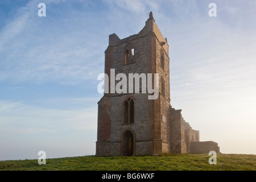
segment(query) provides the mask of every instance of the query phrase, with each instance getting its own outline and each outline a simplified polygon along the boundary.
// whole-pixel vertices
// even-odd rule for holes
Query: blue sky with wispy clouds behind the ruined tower
[[[108,36],[138,34],[150,11],[170,46],[171,105],[221,152],[256,154],[255,9],[230,0],[1,0],[0,160],[95,154]]]

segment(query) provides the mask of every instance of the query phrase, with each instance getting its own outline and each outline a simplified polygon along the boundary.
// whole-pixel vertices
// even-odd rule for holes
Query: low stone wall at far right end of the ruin
[[[209,153],[209,151],[220,152],[218,143],[213,141],[191,142],[189,145],[189,153],[191,154],[205,154]]]

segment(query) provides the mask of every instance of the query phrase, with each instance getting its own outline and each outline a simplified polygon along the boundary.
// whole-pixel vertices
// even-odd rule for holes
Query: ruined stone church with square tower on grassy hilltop
[[[142,92],[142,82],[139,93],[112,92],[109,88],[113,69],[114,76],[158,73],[158,79],[152,76],[152,82],[159,85],[158,98],[149,100],[152,94]],[[219,152],[217,143],[199,142],[199,131],[184,121],[181,110],[170,105],[169,46],[152,12],[138,34],[125,39],[109,36],[105,74],[110,79],[105,77],[108,90],[98,102],[96,156]],[[114,84],[117,83],[115,78]]]

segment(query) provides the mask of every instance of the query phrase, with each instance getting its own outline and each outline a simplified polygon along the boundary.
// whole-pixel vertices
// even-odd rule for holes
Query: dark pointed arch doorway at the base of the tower
[[[122,134],[122,144],[121,144],[121,151],[122,156],[133,156],[134,149],[135,149],[135,136],[134,133],[130,130],[126,130]]]

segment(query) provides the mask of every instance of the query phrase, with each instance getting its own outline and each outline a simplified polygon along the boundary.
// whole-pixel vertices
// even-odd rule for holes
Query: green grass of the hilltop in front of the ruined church
[[[0,161],[1,170],[92,170],[92,171],[172,171],[172,170],[256,170],[256,155],[217,154],[217,164],[208,163],[208,154],[170,154],[162,156],[95,157]]]

